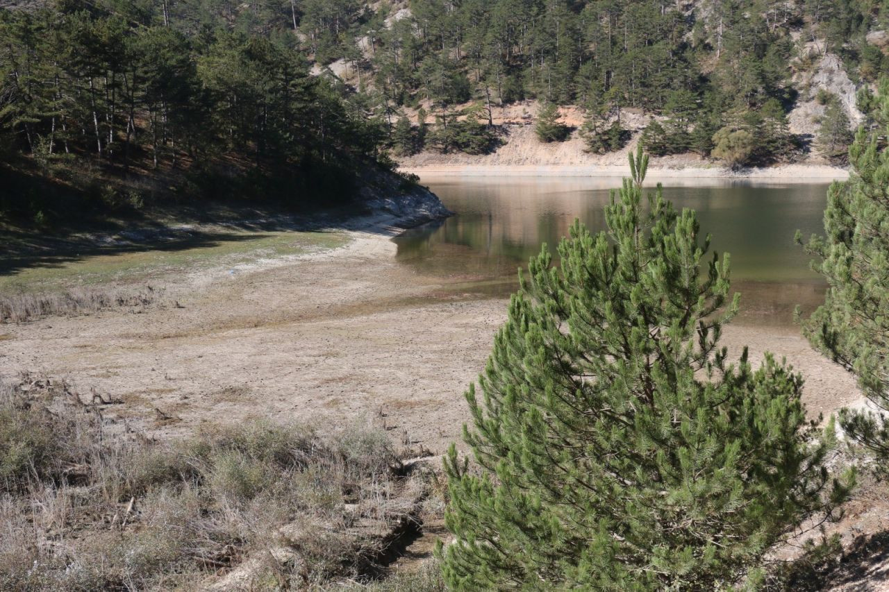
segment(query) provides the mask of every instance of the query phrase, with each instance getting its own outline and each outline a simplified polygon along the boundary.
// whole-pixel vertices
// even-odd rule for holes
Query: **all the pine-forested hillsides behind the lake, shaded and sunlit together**
[[[115,204],[142,196],[103,183],[136,173],[181,194],[324,203],[388,150],[495,150],[509,134],[494,110],[526,100],[540,106],[540,142],[579,137],[591,153],[641,131],[655,156],[734,167],[817,150],[842,164],[855,91],[889,68],[877,0],[0,6],[4,159],[31,171],[6,183],[17,189],[3,207],[33,216],[43,198],[20,188],[35,172]],[[644,131],[628,128],[630,113],[645,116]]]

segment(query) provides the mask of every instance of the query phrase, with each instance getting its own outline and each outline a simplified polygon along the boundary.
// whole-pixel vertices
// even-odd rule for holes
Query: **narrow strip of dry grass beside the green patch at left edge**
[[[138,292],[75,288],[64,292],[0,293],[0,323],[24,323],[44,316],[83,315],[103,308],[143,310],[161,293],[151,286]]]

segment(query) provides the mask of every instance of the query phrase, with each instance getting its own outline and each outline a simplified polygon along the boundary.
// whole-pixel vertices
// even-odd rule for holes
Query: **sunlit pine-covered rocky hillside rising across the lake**
[[[877,2],[415,0],[364,14],[340,5],[327,20],[304,16],[305,43],[322,63],[340,57],[332,70],[371,89],[390,118],[419,108],[415,133],[396,128],[403,154],[490,150],[493,109],[533,99],[580,106],[590,152],[621,148],[621,112],[633,109],[658,116],[645,132],[654,155],[768,164],[817,144],[842,161],[854,98],[811,74],[838,59],[861,86],[886,68]],[[355,24],[343,34],[349,14]],[[805,122],[813,133],[790,132],[791,108],[815,98],[821,107]],[[552,111],[541,120],[541,141],[572,131]]]

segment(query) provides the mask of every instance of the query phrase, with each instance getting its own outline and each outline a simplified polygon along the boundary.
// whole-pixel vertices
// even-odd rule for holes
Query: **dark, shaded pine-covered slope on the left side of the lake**
[[[381,120],[310,76],[274,20],[241,26],[211,2],[21,4],[0,9],[0,211],[13,218],[171,196],[325,206],[380,164]]]

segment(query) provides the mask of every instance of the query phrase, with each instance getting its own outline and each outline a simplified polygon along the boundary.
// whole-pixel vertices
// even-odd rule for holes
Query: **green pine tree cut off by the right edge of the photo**
[[[815,348],[853,372],[877,408],[889,412],[889,151],[881,139],[889,131],[889,81],[869,106],[874,127],[856,133],[849,149],[852,175],[830,186],[825,236],[813,236],[808,244],[821,258],[813,267],[829,289],[803,329]],[[840,426],[875,452],[877,472],[889,475],[885,417],[843,410]]]

